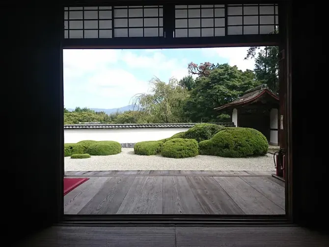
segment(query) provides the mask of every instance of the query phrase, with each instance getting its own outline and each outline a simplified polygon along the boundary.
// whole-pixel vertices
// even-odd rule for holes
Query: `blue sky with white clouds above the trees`
[[[147,93],[157,76],[168,82],[188,75],[189,62],[229,63],[253,69],[247,47],[141,50],[64,50],[64,106],[119,108]]]

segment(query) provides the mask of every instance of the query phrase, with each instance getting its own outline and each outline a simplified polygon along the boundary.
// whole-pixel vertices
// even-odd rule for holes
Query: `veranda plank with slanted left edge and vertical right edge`
[[[163,177],[136,177],[117,214],[162,214]]]

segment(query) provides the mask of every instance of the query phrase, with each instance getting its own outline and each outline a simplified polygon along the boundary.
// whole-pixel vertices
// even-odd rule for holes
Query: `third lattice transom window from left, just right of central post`
[[[225,35],[225,6],[176,5],[175,37],[209,37]]]

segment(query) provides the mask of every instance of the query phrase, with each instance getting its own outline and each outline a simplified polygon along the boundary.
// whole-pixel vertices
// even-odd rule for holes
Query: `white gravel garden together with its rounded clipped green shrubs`
[[[64,170],[273,171],[268,148],[255,129],[201,123],[167,139],[139,142],[134,149],[113,141],[67,143]]]

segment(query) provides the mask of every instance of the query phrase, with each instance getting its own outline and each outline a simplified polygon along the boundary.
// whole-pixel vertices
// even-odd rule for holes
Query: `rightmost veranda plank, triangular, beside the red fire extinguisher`
[[[265,197],[269,198],[281,209],[285,209],[284,187],[274,183],[267,177],[242,177],[241,179],[262,193]]]

